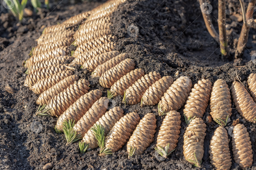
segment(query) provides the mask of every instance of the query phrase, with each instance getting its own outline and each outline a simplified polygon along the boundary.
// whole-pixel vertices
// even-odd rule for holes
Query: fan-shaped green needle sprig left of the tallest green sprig
[[[75,120],[74,121],[72,121],[72,120],[66,121],[65,120],[63,122],[63,131],[65,134],[65,138],[67,140],[66,145],[69,145],[72,142],[82,139],[82,135],[77,134],[77,132],[73,129],[74,126],[75,126]]]

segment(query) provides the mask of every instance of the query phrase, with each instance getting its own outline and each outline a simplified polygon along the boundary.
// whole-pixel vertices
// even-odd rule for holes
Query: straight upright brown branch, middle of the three
[[[229,57],[225,11],[226,11],[226,0],[219,0],[218,26],[219,26],[219,39],[220,39],[220,49],[221,49],[220,51],[221,51],[222,61],[225,61]]]

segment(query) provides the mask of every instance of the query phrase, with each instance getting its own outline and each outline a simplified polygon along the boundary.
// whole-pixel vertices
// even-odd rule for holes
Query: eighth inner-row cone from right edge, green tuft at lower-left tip
[[[145,72],[143,69],[131,70],[129,73],[121,77],[117,82],[115,82],[110,91],[113,92],[114,96],[124,95],[125,90],[128,89],[135,81],[144,76]]]

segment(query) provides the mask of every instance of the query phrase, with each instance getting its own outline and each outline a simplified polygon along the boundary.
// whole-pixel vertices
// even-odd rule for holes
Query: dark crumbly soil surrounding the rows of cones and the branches
[[[213,5],[213,24],[217,26],[217,19],[214,18],[214,16],[217,18],[217,1],[211,3]],[[235,13],[240,13],[240,5],[239,1],[235,0],[230,0],[227,4],[229,4],[226,12],[227,28],[232,30],[229,32],[229,46],[231,55],[234,56],[235,44],[242,22],[230,18]],[[51,13],[42,11],[42,18],[40,15],[36,15],[21,25],[17,25],[11,15],[1,14],[0,169],[42,169],[49,162],[53,164],[53,169],[195,168],[186,162],[183,156],[183,134],[186,129],[183,116],[181,116],[182,123],[178,146],[167,159],[163,159],[154,151],[156,136],[163,119],[159,116],[156,116],[157,129],[154,142],[143,155],[128,159],[126,145],[112,156],[99,157],[97,156],[98,149],[80,154],[77,143],[66,146],[64,135],[55,133],[53,127],[57,118],[34,115],[38,107],[35,103],[38,95],[23,86],[26,69],[21,66],[22,61],[29,58],[29,51],[36,46],[35,39],[40,36],[45,26],[62,22],[70,16],[92,9],[97,5],[99,3],[95,2],[84,2],[76,5],[60,4]],[[142,68],[146,73],[157,71],[161,76],[171,75],[174,80],[185,75],[191,78],[193,84],[203,78],[209,79],[212,84],[217,79],[224,79],[229,87],[236,77],[236,72],[246,86],[248,75],[256,73],[256,60],[249,61],[253,53],[256,52],[255,30],[250,30],[248,50],[245,51],[244,59],[235,61],[235,65],[243,66],[234,67],[231,64],[233,61],[230,63],[221,62],[219,45],[207,32],[197,1],[127,1],[120,5],[112,16],[113,34],[119,39],[116,49],[120,52],[127,52],[130,58],[136,61],[136,68]],[[127,33],[127,29],[131,28],[130,25],[133,25],[133,28],[134,26],[138,28],[138,34],[136,34],[136,29],[131,30],[131,35],[135,36],[130,36]],[[244,65],[245,63],[246,65]],[[176,74],[177,72],[178,74]],[[86,70],[79,69],[77,66],[75,74],[81,78],[89,79],[91,89],[101,89],[103,95],[107,95],[107,89],[103,89],[99,85],[98,79],[90,78]],[[9,92],[6,91],[6,86],[10,86],[14,93],[10,90],[8,90]],[[148,112],[157,115],[157,106],[142,108],[139,104],[125,106],[121,101],[122,96],[118,96],[112,101],[112,104],[121,106],[125,114],[137,111],[141,118]],[[247,123],[241,118],[234,106],[233,108],[231,122],[228,123],[226,129],[229,130],[233,120],[239,118],[240,123],[244,123],[247,127],[253,151],[255,151],[256,125]],[[183,109],[179,110],[181,115],[183,115]],[[212,169],[208,154],[209,141],[214,130],[218,127],[215,122],[209,123],[208,115],[210,115],[209,106],[203,117],[207,125],[203,169]],[[231,142],[229,144],[232,155]],[[251,169],[256,169],[256,157],[253,158],[254,163]],[[239,169],[234,160],[231,168]]]

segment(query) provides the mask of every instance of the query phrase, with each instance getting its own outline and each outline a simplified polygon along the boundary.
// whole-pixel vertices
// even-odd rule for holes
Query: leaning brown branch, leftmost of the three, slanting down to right
[[[220,42],[219,34],[216,32],[216,30],[214,29],[214,27],[212,25],[210,14],[208,14],[204,9],[204,7],[205,7],[204,3],[206,3],[206,2],[205,2],[205,0],[199,0],[199,3],[200,3],[200,8],[201,8],[201,11],[203,14],[204,23],[205,23],[206,28],[207,28],[208,32],[210,33],[210,35],[214,38],[214,40],[219,43]]]

